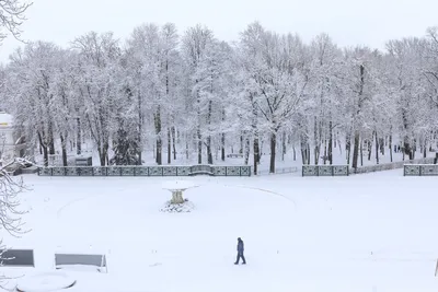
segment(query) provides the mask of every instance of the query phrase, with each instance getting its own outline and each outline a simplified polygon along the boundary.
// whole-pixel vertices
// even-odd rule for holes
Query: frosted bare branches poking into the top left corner
[[[0,1],[0,43],[12,34],[19,40],[21,39],[21,25],[26,20],[25,12],[32,5],[32,2],[21,0],[1,0]]]

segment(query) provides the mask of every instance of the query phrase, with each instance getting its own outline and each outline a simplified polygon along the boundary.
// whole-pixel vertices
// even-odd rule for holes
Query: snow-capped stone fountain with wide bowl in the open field
[[[170,190],[172,192],[172,198],[165,203],[161,211],[170,213],[192,212],[192,210],[195,209],[195,206],[193,202],[188,201],[188,199],[185,199],[183,194],[185,190],[195,187],[198,186],[189,180],[165,182],[162,185],[162,188]]]

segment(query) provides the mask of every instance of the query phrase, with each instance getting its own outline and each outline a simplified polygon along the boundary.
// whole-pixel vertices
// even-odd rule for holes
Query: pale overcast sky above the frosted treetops
[[[339,46],[384,48],[389,39],[423,36],[438,25],[438,0],[33,0],[23,37],[67,46],[89,31],[112,31],[125,39],[137,25],[175,23],[180,33],[197,23],[219,39],[237,40],[257,20],[306,42],[324,32]],[[9,37],[0,61],[21,44]]]

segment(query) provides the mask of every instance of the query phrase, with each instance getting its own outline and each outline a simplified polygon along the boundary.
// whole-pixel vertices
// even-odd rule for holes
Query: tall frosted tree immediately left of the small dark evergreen
[[[99,152],[101,165],[110,161],[111,135],[120,106],[120,48],[112,33],[91,32],[78,37],[72,47],[79,54],[77,93],[84,103],[83,119]]]

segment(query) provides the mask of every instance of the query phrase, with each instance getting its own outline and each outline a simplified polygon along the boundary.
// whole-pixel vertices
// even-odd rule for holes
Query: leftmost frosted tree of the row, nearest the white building
[[[42,149],[44,164],[55,154],[55,117],[60,114],[53,92],[60,48],[51,43],[31,43],[11,56],[5,93],[11,114],[24,135]]]

